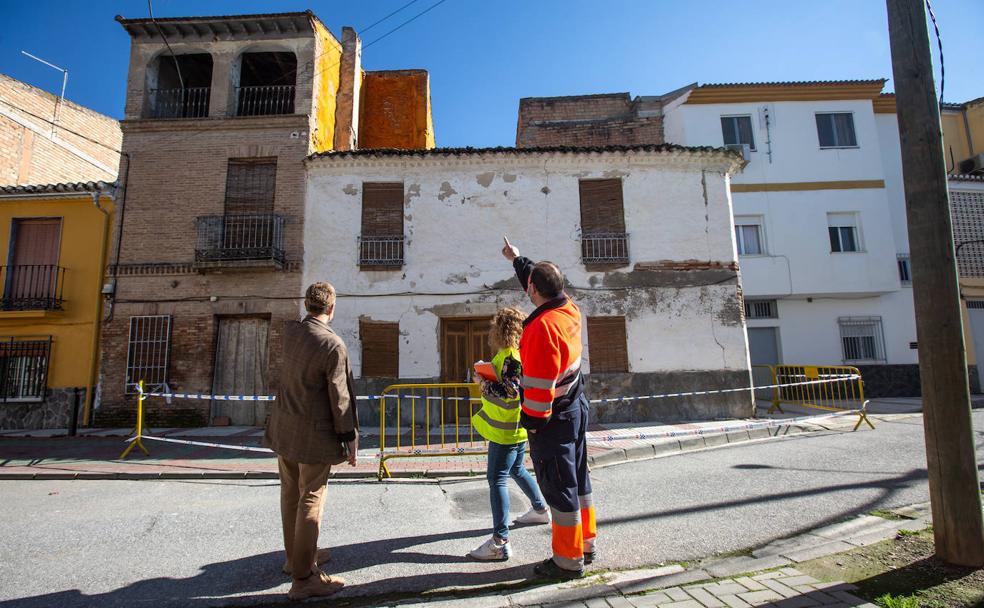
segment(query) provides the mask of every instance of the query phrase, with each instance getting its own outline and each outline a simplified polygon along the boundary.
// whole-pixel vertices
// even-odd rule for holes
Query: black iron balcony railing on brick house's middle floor
[[[274,213],[198,218],[195,261],[266,261],[283,264],[285,218]]]

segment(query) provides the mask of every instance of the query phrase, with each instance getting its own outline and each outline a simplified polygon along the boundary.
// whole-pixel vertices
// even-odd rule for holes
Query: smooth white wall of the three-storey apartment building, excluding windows
[[[821,148],[816,114],[826,112],[851,114],[856,146]],[[749,319],[748,327],[775,328],[778,361],[917,363],[910,348],[916,341],[912,292],[898,268],[899,254],[909,248],[894,114],[876,114],[871,99],[687,104],[684,96],[668,104],[664,116],[667,141],[689,146],[723,145],[724,116],[751,119],[755,149],[734,177],[732,200],[736,223],[762,227],[761,253],[741,255],[739,262],[746,299],[777,302],[777,318]],[[775,190],[816,182],[854,187]],[[875,185],[858,188],[857,182]],[[858,251],[833,252],[828,227],[851,218]],[[842,318],[879,320],[883,353],[852,358],[842,341]]]

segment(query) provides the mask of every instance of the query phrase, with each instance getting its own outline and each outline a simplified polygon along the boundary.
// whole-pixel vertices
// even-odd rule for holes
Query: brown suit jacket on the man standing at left
[[[280,389],[264,443],[287,460],[339,464],[359,428],[348,350],[314,317],[284,329]]]

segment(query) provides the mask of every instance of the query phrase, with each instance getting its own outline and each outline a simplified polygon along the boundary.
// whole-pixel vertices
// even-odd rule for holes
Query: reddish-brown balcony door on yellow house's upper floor
[[[12,236],[4,299],[37,304],[55,298],[61,218],[14,220]]]

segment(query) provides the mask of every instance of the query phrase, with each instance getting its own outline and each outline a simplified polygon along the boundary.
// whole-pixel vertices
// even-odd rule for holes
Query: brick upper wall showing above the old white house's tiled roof
[[[606,146],[663,143],[659,102],[628,93],[519,100],[516,146]]]

